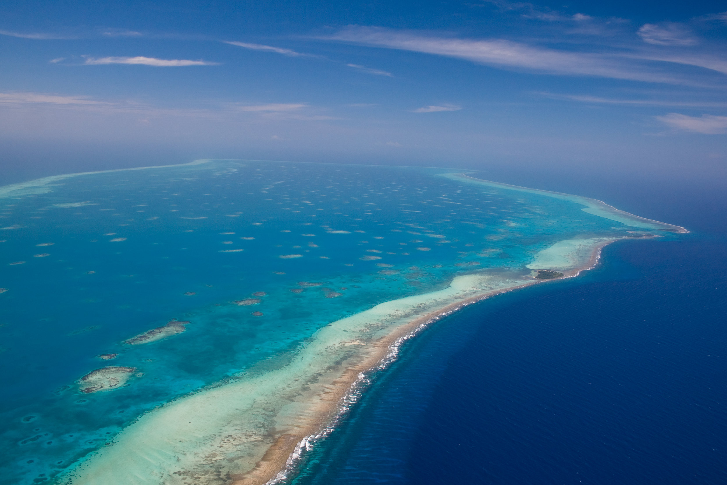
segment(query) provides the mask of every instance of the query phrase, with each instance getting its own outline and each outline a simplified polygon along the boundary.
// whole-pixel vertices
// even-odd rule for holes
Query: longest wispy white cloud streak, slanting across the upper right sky
[[[688,80],[680,76],[672,76],[659,69],[643,66],[643,58],[638,55],[627,58],[619,55],[555,50],[506,39],[457,39],[360,26],[345,28],[333,36],[322,39],[425,52],[488,66],[545,74],[689,84]]]

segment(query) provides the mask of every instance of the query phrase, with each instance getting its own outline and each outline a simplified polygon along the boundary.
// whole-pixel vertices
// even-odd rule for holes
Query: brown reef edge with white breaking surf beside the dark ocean
[[[316,406],[318,408],[316,411],[320,414],[325,414],[327,419],[319,422],[317,426],[308,425],[308,427],[301,427],[300,433],[289,433],[278,437],[273,446],[270,446],[262,459],[256,463],[255,468],[243,476],[234,477],[230,485],[275,485],[289,478],[302,461],[302,451],[307,451],[312,446],[315,446],[317,441],[326,438],[327,435],[332,433],[337,422],[347,414],[350,406],[358,401],[358,398],[354,395],[356,394],[356,390],[361,387],[359,383],[367,380],[369,375],[377,371],[383,371],[390,366],[396,360],[401,350],[401,345],[407,340],[414,338],[414,336],[417,336],[420,332],[425,331],[433,323],[452,315],[464,307],[501,293],[519,290],[537,283],[547,283],[577,277],[582,272],[593,269],[598,265],[602,250],[606,245],[622,239],[630,238],[616,238],[595,245],[590,259],[586,264],[582,267],[564,271],[562,277],[552,280],[536,280],[533,278],[513,288],[489,291],[469,299],[457,301],[430,312],[423,317],[411,320],[411,322],[395,328],[390,334],[380,337],[375,343],[376,352],[367,355],[362,362],[346,368],[332,382],[332,385],[327,387],[328,393],[332,394],[332,396],[329,395],[326,398],[321,398],[321,402]]]

